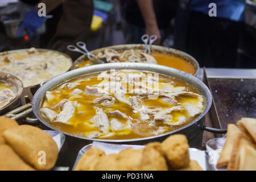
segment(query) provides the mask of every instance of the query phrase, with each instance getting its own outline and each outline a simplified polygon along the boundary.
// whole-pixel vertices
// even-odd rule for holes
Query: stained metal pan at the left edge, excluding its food
[[[7,104],[5,107],[0,109],[0,115],[1,115],[3,113],[6,113],[7,111],[15,109],[17,106],[20,105],[20,96],[23,92],[23,84],[22,84],[22,81],[19,80],[19,78],[13,75],[10,75],[8,73],[0,72],[0,80],[13,85],[15,89],[15,93],[17,95],[15,98],[13,98],[13,100],[9,102],[9,104]]]

